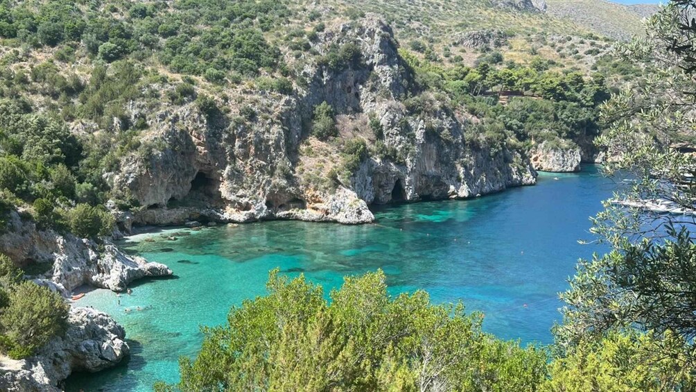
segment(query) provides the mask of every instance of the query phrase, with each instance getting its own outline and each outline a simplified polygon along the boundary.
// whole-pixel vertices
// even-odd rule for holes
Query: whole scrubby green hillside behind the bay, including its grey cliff
[[[211,220],[369,220],[330,211],[528,184],[544,141],[594,159],[596,108],[640,73],[610,39],[539,8],[385,4],[386,22],[365,22],[375,5],[4,1],[3,205],[81,236],[110,232],[107,201],[136,224],[203,207]],[[406,23],[426,8],[425,30]],[[416,169],[423,138],[452,152],[434,179]],[[499,180],[472,185],[489,159]],[[167,221],[141,211],[153,207],[197,210]]]

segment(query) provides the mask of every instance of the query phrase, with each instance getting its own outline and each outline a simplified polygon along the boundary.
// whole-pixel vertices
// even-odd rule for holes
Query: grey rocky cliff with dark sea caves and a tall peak
[[[359,58],[322,61],[347,45]],[[110,177],[143,206],[120,220],[122,228],[190,219],[359,224],[374,219],[371,203],[468,198],[535,183],[521,152],[465,141],[476,119],[418,92],[378,17],[319,33],[312,49],[322,56],[301,70],[303,83],[289,95],[240,88],[233,103],[216,98],[226,114],[193,104],[136,114],[132,105],[133,116],[148,119],[145,142],[159,148],[125,157]],[[322,102],[336,113],[335,140],[310,134]],[[365,141],[370,154],[346,171],[342,148],[351,139]]]

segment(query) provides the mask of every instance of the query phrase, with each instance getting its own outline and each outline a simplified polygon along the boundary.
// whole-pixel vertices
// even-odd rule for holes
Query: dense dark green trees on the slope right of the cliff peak
[[[475,67],[447,70],[403,53],[416,70],[420,86],[447,94],[452,107],[465,107],[481,118],[482,128],[471,127],[472,137],[521,141],[531,146],[541,141],[592,139],[599,134],[599,106],[610,91],[605,77],[581,72],[549,70],[553,63],[536,58],[530,65],[507,62],[496,68],[489,58]],[[500,63],[503,60],[500,59]],[[501,97],[509,102],[499,102]],[[421,96],[405,102],[415,111],[427,102]]]

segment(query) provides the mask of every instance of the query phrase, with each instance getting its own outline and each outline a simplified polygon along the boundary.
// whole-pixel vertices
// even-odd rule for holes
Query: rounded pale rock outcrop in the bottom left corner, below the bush
[[[60,391],[58,382],[80,370],[98,372],[125,359],[130,348],[125,331],[109,315],[91,308],[72,308],[68,331],[37,355],[15,361],[0,356],[0,390]]]

